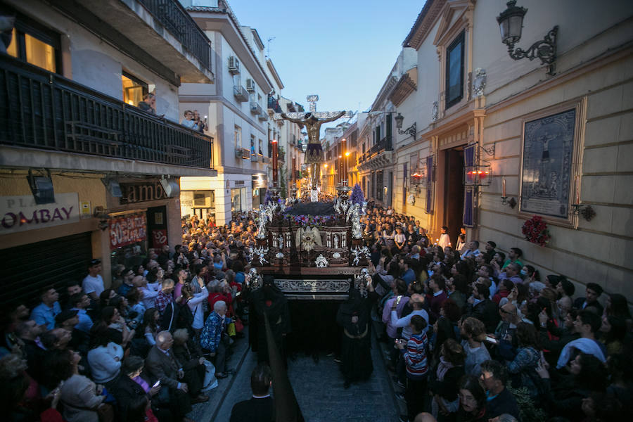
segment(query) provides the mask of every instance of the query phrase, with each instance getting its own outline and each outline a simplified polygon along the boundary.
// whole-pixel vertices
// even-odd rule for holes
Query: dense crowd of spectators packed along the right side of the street
[[[615,421],[633,399],[633,318],[601,280],[575,295],[513,245],[429,238],[382,207],[362,218],[401,421]],[[501,250],[506,250],[507,253]],[[420,321],[423,319],[423,321]]]

